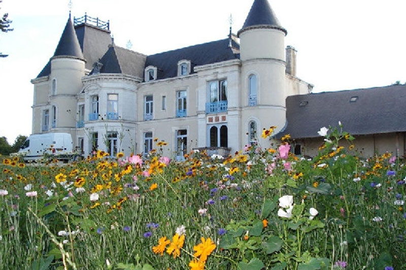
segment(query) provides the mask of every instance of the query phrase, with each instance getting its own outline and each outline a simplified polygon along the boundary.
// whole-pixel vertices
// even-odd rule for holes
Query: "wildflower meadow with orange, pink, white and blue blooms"
[[[0,157],[1,269],[406,269],[406,166],[362,159],[322,128],[314,158],[290,138],[232,156],[192,151],[69,164]]]

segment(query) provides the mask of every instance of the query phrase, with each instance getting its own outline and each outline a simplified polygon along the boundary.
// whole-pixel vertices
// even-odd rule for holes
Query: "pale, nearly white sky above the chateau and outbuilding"
[[[314,93],[406,81],[406,1],[268,0],[297,50],[296,75]],[[117,46],[143,54],[225,38],[244,24],[253,0],[72,0],[72,17],[110,20]],[[33,85],[69,17],[69,0],[3,0],[14,31],[0,33],[0,136],[31,133]]]

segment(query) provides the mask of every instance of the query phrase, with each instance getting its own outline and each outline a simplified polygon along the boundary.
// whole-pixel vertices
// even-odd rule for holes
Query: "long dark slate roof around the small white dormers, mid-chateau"
[[[205,44],[194,45],[178,50],[158,53],[147,56],[145,67],[156,66],[158,69],[157,80],[173,78],[178,75],[178,62],[186,59],[191,62],[191,70],[199,65],[212,64],[232,59],[239,59],[228,47],[228,38]],[[240,49],[240,45],[232,41],[232,47]]]

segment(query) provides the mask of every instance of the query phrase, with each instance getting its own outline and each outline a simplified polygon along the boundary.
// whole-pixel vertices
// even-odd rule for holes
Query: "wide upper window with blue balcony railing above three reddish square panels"
[[[209,83],[209,102],[206,103],[206,113],[227,111],[227,81]]]

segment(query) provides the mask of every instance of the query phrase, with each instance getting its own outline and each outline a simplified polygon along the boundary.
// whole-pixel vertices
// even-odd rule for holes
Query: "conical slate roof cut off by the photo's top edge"
[[[268,3],[268,0],[255,0],[252,4],[251,10],[248,13],[243,28],[238,32],[240,35],[243,31],[252,28],[274,28],[283,31],[287,34],[285,28],[283,28],[276,17],[272,8]]]

